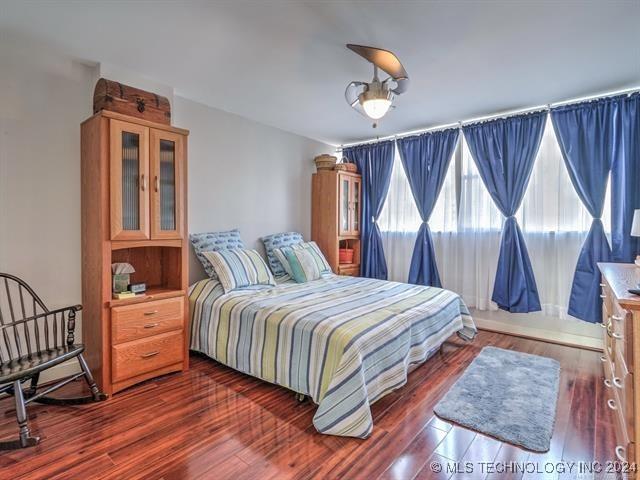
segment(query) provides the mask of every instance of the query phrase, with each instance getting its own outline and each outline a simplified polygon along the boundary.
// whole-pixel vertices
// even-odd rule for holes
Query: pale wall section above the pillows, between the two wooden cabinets
[[[239,228],[248,247],[276,232],[311,230],[313,157],[332,147],[174,97],[189,135],[189,232]],[[204,278],[191,252],[191,282]]]

